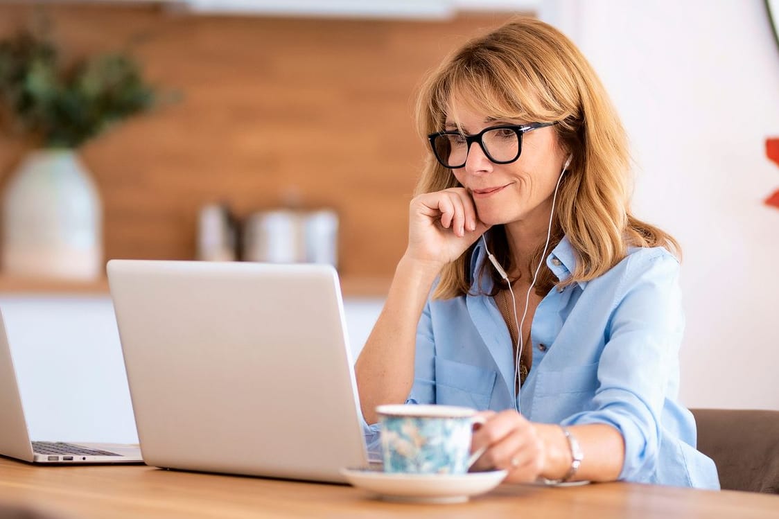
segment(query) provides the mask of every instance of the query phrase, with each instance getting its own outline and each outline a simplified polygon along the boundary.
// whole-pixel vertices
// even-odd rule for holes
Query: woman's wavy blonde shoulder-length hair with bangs
[[[576,252],[576,270],[558,283],[544,266],[538,295],[545,295],[555,284],[601,276],[626,256],[629,246],[664,246],[680,254],[674,238],[630,213],[625,130],[587,59],[559,30],[538,19],[520,17],[464,44],[421,87],[416,110],[420,136],[426,141],[428,134],[441,130],[447,110],[459,103],[495,118],[558,122],[552,126],[558,142],[573,154],[560,183],[548,250],[566,235]],[[416,193],[459,185],[452,171],[428,154]],[[511,271],[513,260],[502,225],[492,228],[490,242],[491,252]],[[435,298],[468,293],[474,246],[444,267]],[[540,245],[530,265],[538,265],[542,253]],[[506,283],[495,270],[490,273],[495,281],[491,295],[495,295]]]

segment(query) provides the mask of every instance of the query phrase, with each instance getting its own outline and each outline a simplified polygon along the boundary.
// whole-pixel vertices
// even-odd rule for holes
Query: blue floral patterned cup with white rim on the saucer
[[[379,405],[384,471],[464,474],[484,454],[470,454],[473,426],[485,422],[477,412],[452,405]]]

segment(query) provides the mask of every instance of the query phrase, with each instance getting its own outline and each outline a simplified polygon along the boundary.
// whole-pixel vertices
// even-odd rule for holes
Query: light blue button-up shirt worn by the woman
[[[473,293],[492,289],[486,270],[477,277],[485,259],[479,242]],[[570,277],[576,255],[567,238],[547,265],[560,281]],[[693,415],[677,401],[684,329],[678,277],[679,262],[665,249],[634,248],[593,281],[552,288],[535,311],[533,365],[517,405],[532,422],[618,429],[625,439],[620,479],[718,489],[714,462],[695,448]],[[428,300],[410,403],[512,409],[513,376],[512,340],[492,297]],[[375,452],[377,426],[366,425],[365,437]]]

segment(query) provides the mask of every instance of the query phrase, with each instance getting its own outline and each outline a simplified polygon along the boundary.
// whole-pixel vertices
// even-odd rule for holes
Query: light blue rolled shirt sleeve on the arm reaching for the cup
[[[618,429],[625,441],[619,478],[640,480],[656,467],[665,390],[669,376],[678,376],[671,373],[676,369],[671,355],[684,327],[679,262],[668,252],[631,257],[623,281],[598,364],[593,409],[563,425],[605,423]]]

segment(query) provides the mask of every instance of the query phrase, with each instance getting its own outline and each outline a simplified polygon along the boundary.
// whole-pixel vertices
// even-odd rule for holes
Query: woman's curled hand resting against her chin
[[[490,228],[479,221],[464,188],[426,192],[411,200],[407,258],[443,267]]]

